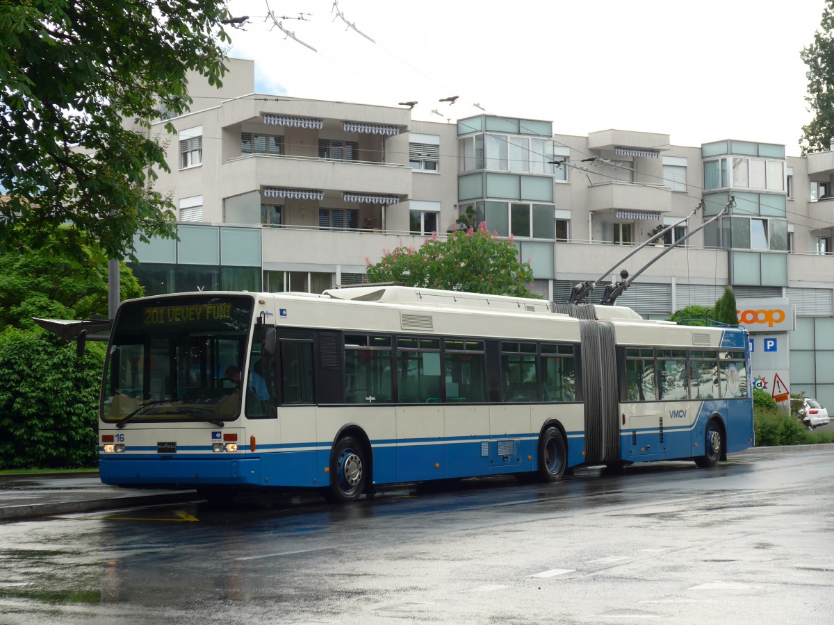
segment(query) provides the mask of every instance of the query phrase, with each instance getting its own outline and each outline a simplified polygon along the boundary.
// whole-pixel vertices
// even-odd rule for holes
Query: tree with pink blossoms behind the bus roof
[[[533,269],[518,257],[512,239],[490,234],[483,222],[477,230],[455,231],[445,241],[435,233],[418,250],[396,248],[385,252],[379,263],[365,262],[372,283],[535,297],[526,287],[533,282]]]

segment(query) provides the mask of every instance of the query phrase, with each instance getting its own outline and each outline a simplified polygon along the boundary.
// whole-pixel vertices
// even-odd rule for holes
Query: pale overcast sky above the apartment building
[[[414,119],[486,112],[553,121],[556,134],[780,143],[799,156],[811,121],[799,53],[825,3],[229,0],[234,17],[249,16],[229,56],[253,59],[257,90],[275,95],[416,101]]]

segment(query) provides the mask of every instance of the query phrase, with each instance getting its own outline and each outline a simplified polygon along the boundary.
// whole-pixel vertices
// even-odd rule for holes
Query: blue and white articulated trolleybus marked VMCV
[[[349,502],[383,484],[555,481],[583,464],[713,467],[751,446],[744,329],[566,308],[384,285],[124,302],[102,481]]]

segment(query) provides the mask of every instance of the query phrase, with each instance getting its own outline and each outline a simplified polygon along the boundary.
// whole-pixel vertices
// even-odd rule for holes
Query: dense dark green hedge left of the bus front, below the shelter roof
[[[0,334],[0,468],[81,468],[97,461],[105,347],[78,359],[40,330]]]

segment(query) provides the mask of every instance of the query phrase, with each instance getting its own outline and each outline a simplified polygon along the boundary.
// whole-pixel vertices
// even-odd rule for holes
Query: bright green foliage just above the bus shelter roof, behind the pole
[[[42,249],[0,252],[0,325],[34,328],[33,317],[108,316],[108,259],[101,248],[87,245],[68,255],[64,233],[62,228],[50,235]],[[119,278],[122,299],[143,295],[124,263]]]

